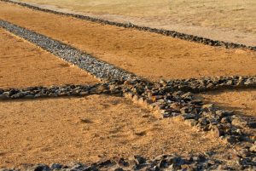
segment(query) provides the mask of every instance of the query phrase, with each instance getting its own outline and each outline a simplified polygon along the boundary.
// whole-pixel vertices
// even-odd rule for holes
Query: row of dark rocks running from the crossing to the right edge
[[[233,77],[201,77],[182,80],[161,80],[155,86],[162,88],[162,91],[191,92],[194,94],[236,88],[256,88],[256,76],[233,76]]]

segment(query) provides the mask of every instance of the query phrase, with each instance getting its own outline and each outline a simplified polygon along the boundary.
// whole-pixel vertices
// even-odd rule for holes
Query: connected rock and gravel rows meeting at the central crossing
[[[92,165],[77,163],[70,166],[55,163],[51,166],[33,165],[26,168],[27,170],[256,169],[256,136],[253,134],[256,121],[248,122],[236,116],[233,111],[225,111],[212,104],[205,104],[192,94],[226,88],[255,88],[256,77],[203,77],[149,83],[134,74],[96,60],[91,55],[84,54],[79,49],[65,43],[28,31],[7,21],[0,20],[0,26],[106,81],[106,83],[92,86],[65,85],[50,88],[0,89],[0,100],[89,94],[123,95],[152,111],[160,112],[163,117],[181,117],[184,123],[191,127],[220,137],[234,151],[234,153],[227,151],[227,160],[235,161],[230,165],[212,158],[209,154],[185,158],[166,155],[151,160],[137,156],[130,162],[119,159],[118,161],[96,162]]]

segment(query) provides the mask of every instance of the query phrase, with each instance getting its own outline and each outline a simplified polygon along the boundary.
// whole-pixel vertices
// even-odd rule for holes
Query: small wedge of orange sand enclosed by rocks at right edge
[[[201,94],[205,100],[237,114],[256,117],[256,90],[227,90]]]

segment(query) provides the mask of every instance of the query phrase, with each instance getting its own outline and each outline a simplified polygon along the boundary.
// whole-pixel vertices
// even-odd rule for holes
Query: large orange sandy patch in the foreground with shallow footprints
[[[120,97],[2,101],[0,109],[0,168],[224,150],[217,138]]]

